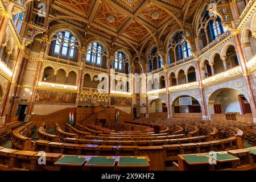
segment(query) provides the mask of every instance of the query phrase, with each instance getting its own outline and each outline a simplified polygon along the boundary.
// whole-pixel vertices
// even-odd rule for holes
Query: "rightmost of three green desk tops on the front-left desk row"
[[[148,163],[148,156],[139,156],[139,157],[120,157],[119,162],[117,164],[118,167],[148,167],[150,164]]]

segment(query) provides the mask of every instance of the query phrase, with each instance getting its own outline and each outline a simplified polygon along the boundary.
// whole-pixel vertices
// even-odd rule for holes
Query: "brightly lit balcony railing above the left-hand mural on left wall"
[[[69,90],[69,91],[77,90],[77,86],[75,85],[63,85],[63,84],[55,84],[55,83],[43,82],[43,81],[38,82],[38,87],[44,88],[44,89],[56,89],[56,90]]]

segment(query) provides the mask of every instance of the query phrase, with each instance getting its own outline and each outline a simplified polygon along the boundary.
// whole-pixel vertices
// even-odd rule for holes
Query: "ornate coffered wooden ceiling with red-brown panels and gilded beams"
[[[53,26],[67,22],[81,34],[100,36],[106,42],[137,51],[148,40],[163,42],[171,29],[185,30],[186,26],[191,26],[191,19],[199,6],[204,1],[209,3],[208,0],[44,1],[51,14],[46,24]],[[152,16],[154,11],[156,19]]]

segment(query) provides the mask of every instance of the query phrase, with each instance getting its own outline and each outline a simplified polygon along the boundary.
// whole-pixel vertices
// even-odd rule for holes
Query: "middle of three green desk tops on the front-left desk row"
[[[88,162],[85,163],[87,167],[114,167],[115,156],[91,156]]]

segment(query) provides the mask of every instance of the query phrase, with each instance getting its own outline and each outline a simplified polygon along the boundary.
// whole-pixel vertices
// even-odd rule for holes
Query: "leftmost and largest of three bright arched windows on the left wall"
[[[75,50],[77,47],[77,40],[75,36],[69,31],[59,31],[53,35],[55,40],[53,53],[63,57],[75,58]]]

